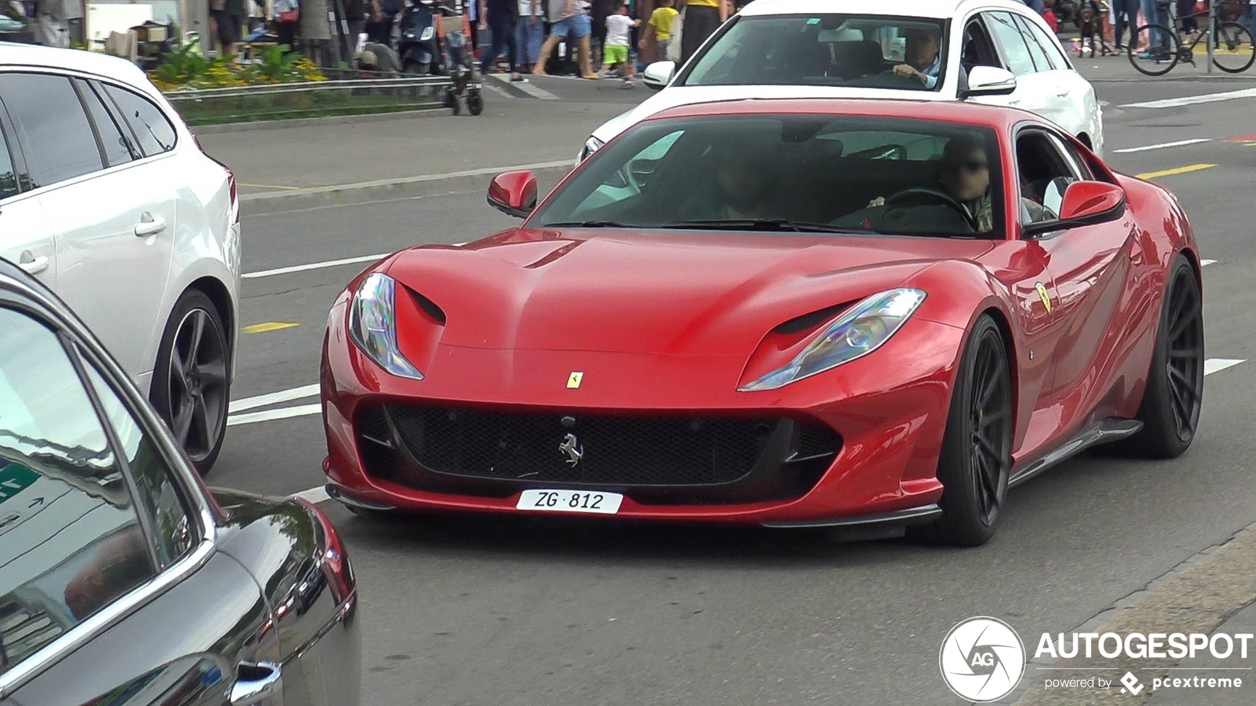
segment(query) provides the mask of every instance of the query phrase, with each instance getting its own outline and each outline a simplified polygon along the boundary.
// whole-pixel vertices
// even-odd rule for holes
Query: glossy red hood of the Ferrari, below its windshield
[[[387,272],[421,302],[397,307],[398,326],[426,321],[440,329],[441,346],[745,356],[790,319],[990,247],[924,237],[520,229],[403,251]],[[423,298],[436,316],[420,315],[425,305],[433,311]]]

